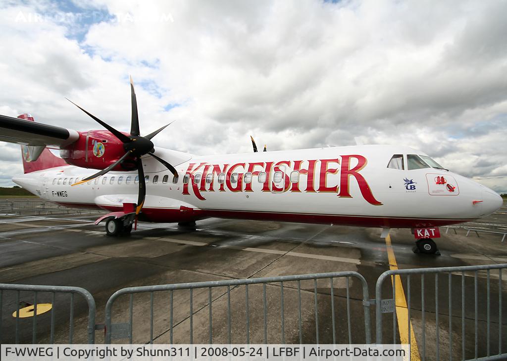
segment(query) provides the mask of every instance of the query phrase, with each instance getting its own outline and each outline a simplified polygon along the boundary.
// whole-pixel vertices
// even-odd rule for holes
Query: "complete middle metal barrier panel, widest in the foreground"
[[[128,287],[105,308],[106,343],[371,343],[370,325],[356,272]]]

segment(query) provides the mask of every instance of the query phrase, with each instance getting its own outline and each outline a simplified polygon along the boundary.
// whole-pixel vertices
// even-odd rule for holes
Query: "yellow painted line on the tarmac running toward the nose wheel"
[[[391,270],[397,270],[398,264],[394,257],[394,250],[391,246],[391,236],[385,237],[385,244],[387,247],[387,257],[389,259],[389,268]],[[407,301],[405,300],[405,291],[403,291],[402,279],[399,275],[391,276],[391,282],[393,282],[394,289],[396,291],[396,320],[398,321],[398,330],[400,332],[400,341],[402,344],[409,343],[409,312],[407,307]],[[404,357],[404,359],[410,359],[412,361],[420,361],[419,347],[414,335],[414,327],[412,326],[412,320],[410,320],[410,358]]]

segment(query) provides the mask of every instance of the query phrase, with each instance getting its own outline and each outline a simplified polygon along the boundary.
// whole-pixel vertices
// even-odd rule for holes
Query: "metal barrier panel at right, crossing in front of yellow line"
[[[507,359],[502,300],[506,268],[498,264],[382,273],[375,287],[376,342],[409,343],[412,356],[416,353],[421,360]]]

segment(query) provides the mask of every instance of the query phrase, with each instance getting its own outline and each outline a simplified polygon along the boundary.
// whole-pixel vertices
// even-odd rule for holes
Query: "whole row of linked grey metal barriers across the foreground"
[[[506,359],[503,269],[386,271],[375,300],[357,272],[128,287],[108,299],[105,325],[95,324],[95,301],[83,288],[0,284],[0,343],[94,343],[104,327],[105,343],[371,343],[375,304],[377,343],[409,343],[421,360]],[[49,316],[39,315],[42,302],[52,305]]]

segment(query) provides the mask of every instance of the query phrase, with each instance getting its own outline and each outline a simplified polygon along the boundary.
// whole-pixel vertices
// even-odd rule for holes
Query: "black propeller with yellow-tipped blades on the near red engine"
[[[69,99],[67,99],[67,100],[70,101],[71,103],[73,103],[74,105],[76,105],[79,109],[81,109],[83,112],[85,112],[93,120],[95,120],[97,123],[102,125],[104,128],[106,128],[112,134],[114,134],[123,143],[123,149],[125,150],[125,154],[120,159],[118,159],[116,162],[114,162],[113,164],[111,164],[107,168],[104,168],[104,169],[98,171],[97,173],[82,179],[80,182],[74,183],[73,186],[77,186],[79,184],[86,183],[96,177],[104,175],[108,171],[114,169],[121,162],[123,162],[127,157],[132,157],[135,159],[137,173],[139,175],[139,191],[138,191],[138,197],[137,197],[137,206],[135,208],[135,214],[137,216],[137,214],[139,214],[139,212],[142,209],[142,205],[144,204],[144,198],[146,197],[146,181],[144,179],[144,170],[142,169],[141,157],[144,155],[152,156],[157,161],[159,161],[162,165],[164,165],[167,169],[169,169],[169,171],[175,177],[178,176],[178,172],[167,161],[163,160],[162,158],[160,158],[154,154],[155,149],[153,146],[153,142],[151,141],[151,139],[155,135],[157,135],[162,130],[164,130],[172,122],[167,125],[164,125],[162,128],[154,131],[153,133],[150,133],[146,136],[141,136],[140,130],[139,130],[139,115],[137,113],[137,99],[135,96],[134,82],[132,81],[132,77],[130,77],[130,93],[131,93],[131,102],[132,102],[132,119],[130,122],[130,136],[123,134],[122,132],[116,130],[115,128],[108,125],[107,123],[101,121],[100,119],[98,119],[97,117],[92,115],[91,113],[88,113],[87,111],[85,111],[81,106],[74,103],[73,101],[70,101]]]

